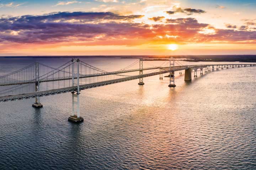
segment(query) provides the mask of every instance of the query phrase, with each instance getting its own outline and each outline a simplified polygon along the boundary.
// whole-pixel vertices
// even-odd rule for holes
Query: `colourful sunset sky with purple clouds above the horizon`
[[[256,55],[255,9],[255,0],[0,0],[0,56]]]

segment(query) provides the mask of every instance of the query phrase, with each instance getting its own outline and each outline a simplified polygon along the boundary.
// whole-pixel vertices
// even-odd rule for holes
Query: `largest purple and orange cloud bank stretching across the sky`
[[[247,26],[239,27],[240,30],[216,29],[192,17],[168,18],[165,23],[157,24],[133,21],[141,17],[143,15],[125,16],[112,12],[54,12],[2,17],[0,44],[28,47],[31,44],[142,45],[217,41],[250,41],[256,44],[256,31],[246,30]]]

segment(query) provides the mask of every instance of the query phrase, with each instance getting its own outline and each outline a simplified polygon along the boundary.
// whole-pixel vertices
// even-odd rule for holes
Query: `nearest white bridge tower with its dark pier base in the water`
[[[72,59],[72,62],[74,59]],[[84,118],[80,117],[80,105],[79,105],[79,95],[80,95],[80,87],[79,87],[79,59],[76,59],[77,62],[77,93],[72,93],[72,115],[68,118],[68,121],[71,121],[73,123],[80,123],[84,121]],[[72,63],[72,85],[74,86],[74,62]],[[76,98],[76,101],[75,101]],[[75,115],[75,104],[76,104],[76,114]]]

